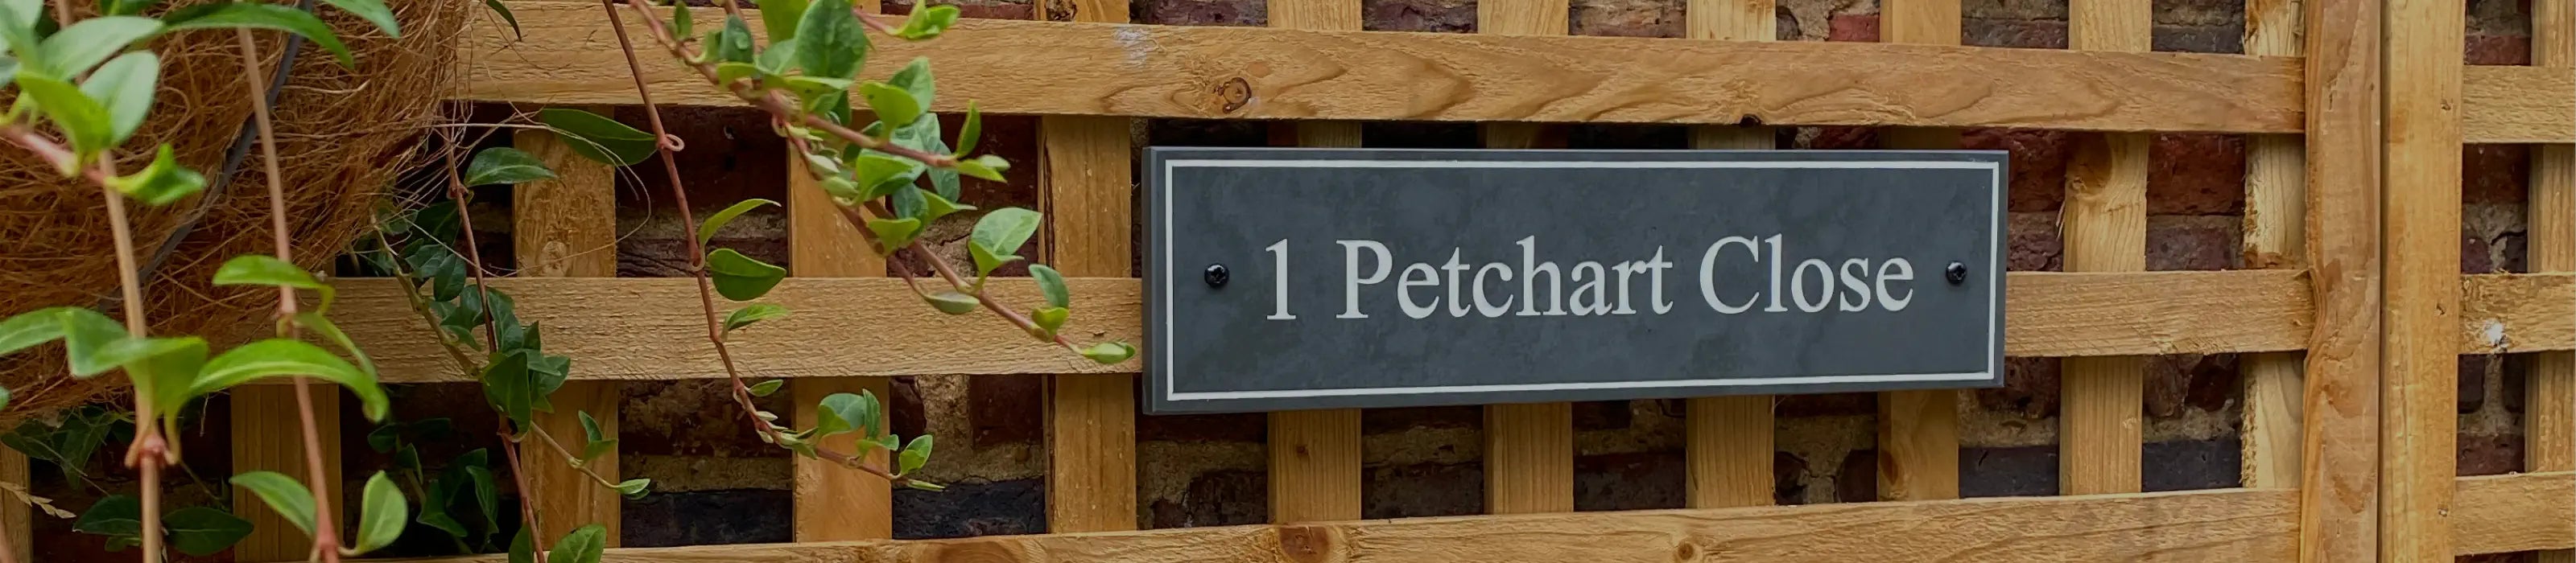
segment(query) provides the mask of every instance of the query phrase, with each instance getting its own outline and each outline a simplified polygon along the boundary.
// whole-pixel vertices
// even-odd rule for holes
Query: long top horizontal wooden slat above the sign
[[[477,18],[464,98],[636,103],[598,5]],[[696,10],[708,28],[716,10]],[[641,26],[626,18],[629,26]],[[760,26],[755,18],[752,26]],[[871,77],[930,57],[940,111],[1144,118],[2020,126],[2295,134],[2290,57],[2107,54],[1852,41],[1680,41],[963,21],[884,41]],[[732,105],[652,62],[659,103]]]

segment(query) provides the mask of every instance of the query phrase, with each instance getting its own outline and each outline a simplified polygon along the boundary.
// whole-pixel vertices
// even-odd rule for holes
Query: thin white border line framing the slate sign
[[[1819,162],[1600,162],[1600,159],[1540,159],[1540,162],[1473,162],[1473,159],[1164,159],[1162,185],[1172,190],[1172,170],[1182,167],[1734,167],[1734,170],[1986,170],[1994,177],[1994,229],[1989,247],[1991,262],[2004,260],[2004,170],[1999,162],[1950,162],[1950,159],[1819,159]],[[1172,224],[1172,198],[1162,198],[1164,229]],[[1989,262],[1989,265],[1991,265]],[[1162,278],[1154,283],[1172,283],[1172,234],[1162,231]],[[2004,283],[1986,285],[1986,301],[1996,303],[1986,308],[1986,342],[2002,339],[2004,314],[2002,314],[2002,288]],[[1172,290],[1162,290],[1162,326],[1172,329]],[[1177,360],[1170,342],[1162,347],[1162,388],[1164,401],[1229,401],[1229,398],[1301,398],[1301,396],[1419,396],[1419,393],[1510,393],[1510,391],[1587,391],[1587,388],[1716,388],[1716,386],[1793,386],[1793,383],[1893,383],[1893,380],[1991,380],[1999,370],[1996,357],[1986,357],[1986,370],[1981,373],[1888,373],[1888,375],[1808,375],[1808,378],[1700,378],[1700,380],[1595,380],[1595,383],[1499,383],[1499,386],[1406,386],[1406,388],[1296,388],[1296,391],[1175,391]]]

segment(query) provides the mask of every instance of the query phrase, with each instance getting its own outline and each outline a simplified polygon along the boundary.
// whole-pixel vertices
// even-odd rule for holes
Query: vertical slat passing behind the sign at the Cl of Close
[[[1690,39],[1775,41],[1775,0],[1690,0]],[[1695,126],[1692,149],[1777,149],[1767,126]],[[1772,504],[1772,396],[1690,398],[1682,452],[1690,463],[1690,506]]]

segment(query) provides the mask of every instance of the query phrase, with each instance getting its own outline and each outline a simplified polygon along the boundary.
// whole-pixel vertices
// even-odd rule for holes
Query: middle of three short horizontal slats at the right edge
[[[2460,352],[2576,350],[2576,273],[2460,280]]]

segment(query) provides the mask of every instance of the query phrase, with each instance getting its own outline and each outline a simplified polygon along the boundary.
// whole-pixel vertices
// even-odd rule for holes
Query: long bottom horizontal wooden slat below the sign
[[[1425,517],[896,542],[608,550],[611,563],[860,560],[2295,560],[2295,491]],[[438,558],[417,563],[484,563]]]

